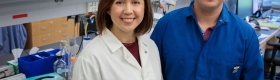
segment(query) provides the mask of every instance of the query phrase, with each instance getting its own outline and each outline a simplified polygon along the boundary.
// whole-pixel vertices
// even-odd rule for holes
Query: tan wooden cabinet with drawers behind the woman
[[[62,36],[78,36],[74,20],[60,17],[24,24],[27,31],[25,49],[39,47],[62,40]]]

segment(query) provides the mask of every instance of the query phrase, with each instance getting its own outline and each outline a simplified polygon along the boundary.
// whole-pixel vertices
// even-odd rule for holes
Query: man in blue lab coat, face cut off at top
[[[228,11],[224,0],[195,0],[157,23],[165,80],[263,80],[254,29]]]

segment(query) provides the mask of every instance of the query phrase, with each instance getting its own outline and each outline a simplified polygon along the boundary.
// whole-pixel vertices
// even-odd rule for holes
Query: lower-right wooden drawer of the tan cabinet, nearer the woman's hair
[[[58,42],[62,40],[63,36],[74,36],[74,27],[73,28],[67,28],[64,30],[55,30],[55,41]]]

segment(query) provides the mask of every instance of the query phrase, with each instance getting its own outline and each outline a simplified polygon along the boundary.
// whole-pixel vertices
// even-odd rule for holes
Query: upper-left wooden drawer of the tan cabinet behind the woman
[[[33,36],[54,31],[54,27],[57,25],[55,19],[32,22],[31,24]]]

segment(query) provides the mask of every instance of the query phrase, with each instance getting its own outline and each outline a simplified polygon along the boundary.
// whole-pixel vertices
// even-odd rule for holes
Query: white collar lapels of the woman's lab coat
[[[148,61],[149,57],[149,50],[147,48],[147,42],[145,39],[143,39],[143,36],[137,37],[138,39],[138,46],[139,46],[139,55],[141,60],[141,66],[136,61],[134,56],[124,47],[124,45],[117,39],[117,37],[109,30],[105,29],[102,32],[101,37],[103,38],[105,44],[109,47],[109,49],[112,51],[112,53],[115,53],[118,49],[122,48],[124,53],[125,60],[133,65],[138,70],[142,70],[146,66],[146,63]]]

